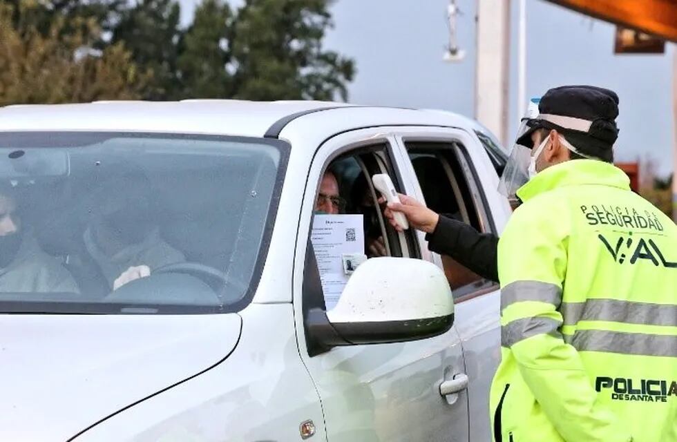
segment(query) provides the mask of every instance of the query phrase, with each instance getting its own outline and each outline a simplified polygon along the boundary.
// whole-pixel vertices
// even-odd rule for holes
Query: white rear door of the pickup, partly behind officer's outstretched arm
[[[498,234],[509,208],[495,189],[498,177],[490,158],[470,131],[452,128],[403,128],[397,132],[399,153],[408,159],[410,195],[431,209]],[[451,212],[451,213],[448,213]],[[421,242],[426,248],[425,241]],[[448,256],[422,256],[442,267],[455,300],[455,323],[469,378],[470,440],[490,439],[488,394],[500,360],[500,293],[486,280]]]

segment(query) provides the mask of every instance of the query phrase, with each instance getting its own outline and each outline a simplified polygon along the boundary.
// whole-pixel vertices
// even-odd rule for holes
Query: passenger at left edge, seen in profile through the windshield
[[[17,199],[15,189],[0,186],[0,292],[79,293],[70,272],[23,226]]]

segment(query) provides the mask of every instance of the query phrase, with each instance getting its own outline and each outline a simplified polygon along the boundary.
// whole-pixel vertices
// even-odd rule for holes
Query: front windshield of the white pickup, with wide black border
[[[287,152],[243,137],[0,133],[0,312],[241,309]]]

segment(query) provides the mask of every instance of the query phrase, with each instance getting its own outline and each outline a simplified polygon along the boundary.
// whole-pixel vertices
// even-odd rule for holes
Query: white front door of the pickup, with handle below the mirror
[[[333,441],[468,441],[467,394],[462,388],[464,361],[459,335],[452,327],[433,338],[406,343],[351,345],[328,352],[309,348],[304,309],[317,287],[316,262],[309,242],[318,185],[338,155],[362,151],[375,155],[399,189],[403,171],[392,128],[370,128],[336,135],[318,147],[303,195],[296,238],[294,309],[301,358],[321,398],[327,439]],[[390,241],[393,256],[419,256],[410,233]],[[316,279],[316,276],[315,276]],[[322,303],[322,300],[320,300]],[[447,396],[440,385],[454,381]],[[459,376],[460,382],[459,382]],[[447,382],[445,385],[450,385]]]

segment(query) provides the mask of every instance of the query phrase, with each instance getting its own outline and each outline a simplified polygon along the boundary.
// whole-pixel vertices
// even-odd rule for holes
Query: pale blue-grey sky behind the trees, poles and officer
[[[500,1],[500,0],[495,0]],[[196,0],[180,0],[190,21]],[[239,3],[231,1],[231,3]],[[350,102],[475,112],[475,0],[457,0],[460,64],[442,61],[448,0],[338,0],[325,47],[356,61]],[[650,155],[672,169],[672,60],[666,55],[613,55],[615,27],[543,0],[527,0],[527,95],[562,84],[611,88],[620,97],[618,160]],[[517,41],[513,0],[511,48]],[[517,128],[517,52],[511,52],[511,137]]]

